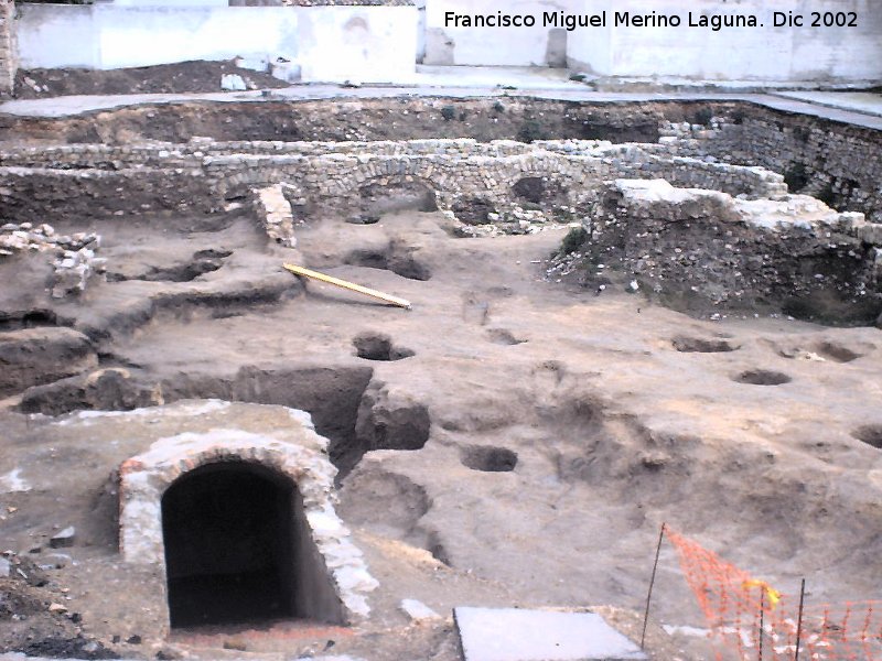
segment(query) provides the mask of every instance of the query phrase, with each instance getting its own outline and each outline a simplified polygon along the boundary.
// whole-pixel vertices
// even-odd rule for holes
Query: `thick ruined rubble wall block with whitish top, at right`
[[[619,180],[587,230],[580,268],[603,263],[675,307],[783,308],[828,323],[882,312],[882,225],[813,197],[743,199]]]

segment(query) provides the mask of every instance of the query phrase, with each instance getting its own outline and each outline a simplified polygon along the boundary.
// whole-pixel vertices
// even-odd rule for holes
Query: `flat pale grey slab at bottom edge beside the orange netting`
[[[465,661],[646,659],[595,613],[459,607],[453,618]]]

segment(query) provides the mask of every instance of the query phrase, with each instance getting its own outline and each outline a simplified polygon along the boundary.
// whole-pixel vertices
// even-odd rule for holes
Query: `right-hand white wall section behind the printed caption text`
[[[464,28],[453,14],[533,17],[535,25]],[[601,26],[568,31],[545,14],[599,17]],[[773,12],[803,25],[774,26]],[[819,26],[813,28],[813,12]],[[627,25],[619,18],[627,14]],[[756,26],[690,26],[701,17],[756,18]],[[634,17],[677,17],[678,26],[634,26]],[[781,18],[781,15],[778,17]],[[845,25],[824,25],[831,19]],[[566,52],[569,68],[600,76],[707,80],[882,79],[879,0],[428,0],[426,63],[549,66]]]

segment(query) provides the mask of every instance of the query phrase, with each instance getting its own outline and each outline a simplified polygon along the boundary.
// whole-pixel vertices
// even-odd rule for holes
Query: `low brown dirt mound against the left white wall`
[[[20,69],[13,96],[42,99],[69,95],[186,94],[220,91],[220,77],[237,74],[248,89],[275,89],[289,84],[267,73],[228,62],[181,62],[158,66],[111,69]]]

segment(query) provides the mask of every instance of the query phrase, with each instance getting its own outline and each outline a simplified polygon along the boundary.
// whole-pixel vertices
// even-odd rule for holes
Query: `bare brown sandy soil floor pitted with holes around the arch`
[[[57,304],[36,258],[7,262],[4,281],[18,286],[3,288],[3,310],[51,310],[39,318],[84,332],[105,371],[7,400],[0,537],[15,562],[46,564],[53,527],[77,527],[72,561],[45,570],[44,589],[80,621],[52,614],[29,629],[0,617],[6,649],[45,638],[61,618],[73,651],[85,636],[137,657],[236,654],[218,649],[227,643],[455,659],[451,622],[411,624],[402,598],[444,616],[456,605],[606,604],[633,636],[663,521],[785,593],[806,576],[813,600],[874,596],[879,329],[699,321],[619,288],[596,294],[546,277],[562,230],[460,239],[440,214],[316,220],[299,229],[295,251],[267,246],[235,213],[62,229],[105,237],[110,281]],[[219,267],[189,272],[208,250]],[[388,270],[405,257],[422,279]],[[405,296],[413,310],[304,285],[282,260]],[[26,325],[10,316],[7,336],[20,332],[15,318]],[[96,387],[108,370],[109,399]],[[765,384],[776,380],[786,382]],[[163,622],[141,607],[161,577],[131,573],[115,550],[107,484],[129,455],[9,408],[63,414],[193,397],[302,408],[332,438],[345,474],[338,511],[380,582],[368,626],[308,640],[283,625],[162,640]],[[660,567],[654,621],[702,626],[669,546]],[[26,594],[15,576],[0,588]],[[140,642],[126,643],[132,636]],[[649,651],[709,658],[700,639],[657,628]]]

